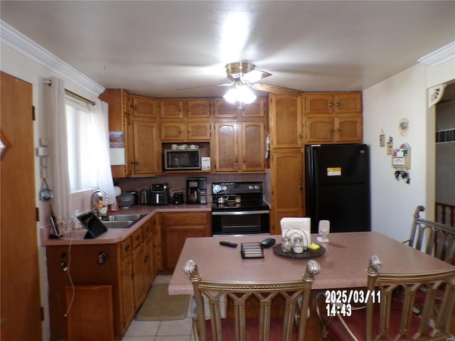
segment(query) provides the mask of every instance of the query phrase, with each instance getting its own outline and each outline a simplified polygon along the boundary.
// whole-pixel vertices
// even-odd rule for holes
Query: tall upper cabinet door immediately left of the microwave
[[[148,120],[133,120],[134,175],[158,173],[156,156],[156,123]]]

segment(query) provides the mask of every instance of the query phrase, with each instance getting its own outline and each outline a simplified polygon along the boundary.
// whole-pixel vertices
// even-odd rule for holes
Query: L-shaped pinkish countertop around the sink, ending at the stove
[[[159,212],[210,212],[212,206],[207,205],[134,205],[131,207],[123,207],[117,211],[109,212],[109,215],[129,215],[140,214],[146,215],[141,220],[136,222],[132,227],[125,229],[108,229],[107,232],[101,234],[96,239],[84,239],[86,229],[71,229],[68,232],[63,232],[63,237],[59,239],[50,239],[50,227],[43,227],[40,231],[41,246],[52,247],[57,245],[93,245],[93,244],[115,244],[122,242],[124,239],[133,234],[139,229],[144,222],[149,220],[153,215]]]

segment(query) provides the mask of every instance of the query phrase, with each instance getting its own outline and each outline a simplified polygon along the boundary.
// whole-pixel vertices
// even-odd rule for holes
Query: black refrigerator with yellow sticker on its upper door
[[[370,231],[370,153],[366,144],[305,146],[306,217],[330,232]]]

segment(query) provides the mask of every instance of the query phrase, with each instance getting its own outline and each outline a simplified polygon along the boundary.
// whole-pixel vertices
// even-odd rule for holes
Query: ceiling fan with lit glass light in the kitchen
[[[252,87],[252,89],[271,92],[273,94],[287,94],[290,96],[298,97],[301,94],[300,90],[294,90],[289,87],[280,87],[279,85],[271,85],[266,83],[259,83],[259,80],[262,80],[265,77],[269,77],[272,73],[259,70],[256,68],[256,65],[250,62],[236,62],[229,63],[225,65],[226,75],[230,82],[219,84],[219,85],[206,85],[203,87],[232,87],[231,90],[240,89],[242,87]],[[198,89],[203,87],[187,87],[185,89],[178,90],[190,90]],[[228,95],[228,94],[226,94]],[[226,98],[225,95],[225,98]],[[229,100],[229,99],[227,99]],[[254,100],[254,99],[253,99]]]

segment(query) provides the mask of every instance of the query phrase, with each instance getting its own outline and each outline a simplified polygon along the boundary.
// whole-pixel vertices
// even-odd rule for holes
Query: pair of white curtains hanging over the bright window
[[[68,115],[65,114],[65,87],[57,77],[50,78],[50,86],[45,87],[45,103],[55,217],[66,221],[73,215],[72,187],[75,190],[100,188],[109,197],[109,204],[114,203],[107,103],[97,99],[95,107],[68,107]],[[90,144],[84,146],[87,144],[81,141],[90,141]]]

